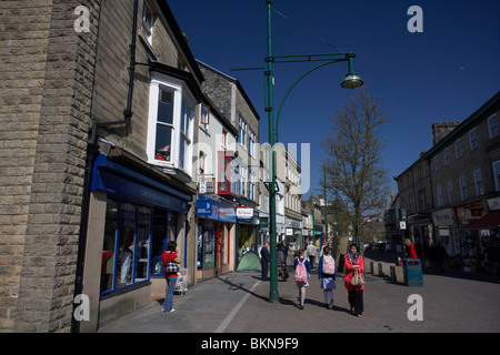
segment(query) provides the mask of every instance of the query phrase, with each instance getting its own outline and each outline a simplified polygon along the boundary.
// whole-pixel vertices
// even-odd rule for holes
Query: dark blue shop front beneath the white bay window
[[[103,154],[94,162],[83,293],[101,325],[149,304],[156,288],[164,296],[168,241],[187,267],[191,195],[151,176]]]

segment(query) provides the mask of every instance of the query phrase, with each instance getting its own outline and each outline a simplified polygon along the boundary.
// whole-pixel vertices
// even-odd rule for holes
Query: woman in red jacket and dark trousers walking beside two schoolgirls
[[[363,314],[364,261],[359,254],[356,244],[352,244],[349,247],[349,253],[343,256],[343,261],[346,265],[343,284],[348,291],[348,301],[351,306],[351,313],[361,317]]]

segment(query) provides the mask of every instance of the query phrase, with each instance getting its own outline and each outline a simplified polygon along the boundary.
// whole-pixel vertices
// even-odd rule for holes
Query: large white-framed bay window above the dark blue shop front
[[[149,100],[149,163],[181,169],[190,175],[194,99],[182,82],[159,75],[151,80]]]

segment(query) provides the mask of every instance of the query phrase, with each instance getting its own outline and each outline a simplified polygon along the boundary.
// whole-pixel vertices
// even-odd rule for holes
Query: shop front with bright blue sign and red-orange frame
[[[208,194],[197,196],[197,280],[207,280],[233,270],[234,204]]]

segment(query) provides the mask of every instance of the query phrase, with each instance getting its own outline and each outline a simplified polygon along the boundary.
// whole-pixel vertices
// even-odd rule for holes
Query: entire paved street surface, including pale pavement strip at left
[[[292,276],[292,275],[291,275]],[[294,282],[279,282],[279,304],[269,303],[269,282],[260,274],[231,273],[204,281],[174,296],[173,313],[150,305],[117,320],[100,333],[498,333],[500,283],[424,274],[422,287],[366,274],[364,313],[350,314],[342,274],[333,310],[324,306],[312,271],[304,310]]]

